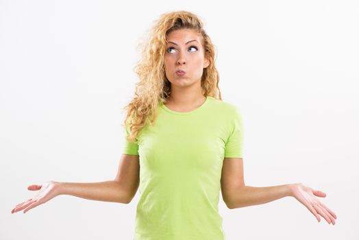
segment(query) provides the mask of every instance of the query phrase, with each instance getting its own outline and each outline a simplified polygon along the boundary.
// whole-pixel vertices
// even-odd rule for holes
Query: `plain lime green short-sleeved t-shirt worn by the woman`
[[[140,159],[134,240],[225,239],[218,211],[223,158],[243,157],[236,106],[210,96],[190,112],[158,104],[153,125],[136,143],[125,140],[123,154]]]

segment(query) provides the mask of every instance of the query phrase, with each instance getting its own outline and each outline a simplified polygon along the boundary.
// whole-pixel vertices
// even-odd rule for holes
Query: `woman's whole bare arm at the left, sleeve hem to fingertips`
[[[88,200],[120,202],[128,204],[136,194],[139,185],[139,156],[123,154],[114,180],[105,182],[54,182],[31,185],[27,189],[40,190],[34,197],[16,205],[12,213],[23,209],[24,213],[58,195],[73,195]]]

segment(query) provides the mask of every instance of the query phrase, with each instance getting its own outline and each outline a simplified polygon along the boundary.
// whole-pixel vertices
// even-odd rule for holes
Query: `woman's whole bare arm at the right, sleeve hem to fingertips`
[[[271,187],[246,186],[243,177],[243,158],[225,158],[222,167],[221,191],[228,208],[265,204],[282,197],[295,197],[301,204],[321,221],[321,215],[328,224],[335,224],[336,215],[317,197],[326,194],[306,187],[304,184],[283,184]],[[316,197],[317,196],[317,197]]]

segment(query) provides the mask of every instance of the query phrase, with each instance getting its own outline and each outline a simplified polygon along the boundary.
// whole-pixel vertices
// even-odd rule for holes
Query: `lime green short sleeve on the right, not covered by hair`
[[[239,108],[232,112],[230,136],[225,143],[225,158],[243,158],[243,121]]]

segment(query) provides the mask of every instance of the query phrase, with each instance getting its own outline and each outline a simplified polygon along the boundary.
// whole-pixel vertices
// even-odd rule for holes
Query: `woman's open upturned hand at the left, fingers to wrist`
[[[17,204],[11,211],[11,213],[16,213],[25,208],[24,213],[29,211],[31,208],[34,208],[40,204],[44,204],[45,202],[51,200],[53,197],[59,195],[58,192],[59,182],[49,181],[43,185],[30,185],[27,187],[28,190],[38,191],[38,193],[30,198],[29,200],[22,202],[21,204]]]

